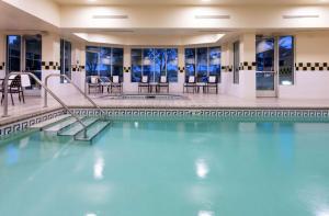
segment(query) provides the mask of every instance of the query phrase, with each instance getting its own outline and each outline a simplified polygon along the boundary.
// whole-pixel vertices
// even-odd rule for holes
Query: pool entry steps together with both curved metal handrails
[[[106,126],[110,125],[110,121],[106,118],[106,113],[103,111],[91,98],[87,95],[86,92],[83,92],[77,84],[72,82],[71,79],[69,79],[66,75],[59,75],[59,73],[50,73],[45,78],[45,83],[43,83],[32,72],[10,72],[4,77],[4,99],[3,99],[3,117],[8,117],[8,80],[9,77],[13,75],[25,75],[29,76],[30,78],[34,79],[42,88],[45,89],[45,94],[44,94],[44,107],[47,107],[47,101],[48,96],[47,94],[49,93],[68,113],[68,115],[65,115],[63,118],[58,120],[59,123],[61,121],[65,122],[65,118],[67,120],[69,124],[64,124],[63,127],[58,126],[59,128],[56,133],[59,136],[73,136],[76,140],[82,140],[82,141],[91,141],[99,133],[101,133]],[[48,79],[52,77],[60,77],[64,78],[70,83],[71,86],[75,87],[76,90],[78,90],[81,94],[84,95],[84,98],[91,102],[91,104],[97,107],[101,112],[101,117],[100,118],[89,118],[89,117],[83,117],[80,118],[77,116],[69,107],[61,101],[49,88],[48,88]],[[37,125],[32,126],[32,128],[39,128],[39,129],[48,129],[53,128],[54,125],[56,125],[56,120],[50,120],[48,122],[44,122]],[[94,126],[97,125],[97,126]],[[95,129],[94,129],[95,127]],[[89,129],[93,128],[93,129]]]

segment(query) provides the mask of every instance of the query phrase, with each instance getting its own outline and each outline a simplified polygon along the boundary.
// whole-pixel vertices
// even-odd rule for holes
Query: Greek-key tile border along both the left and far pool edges
[[[76,115],[100,116],[95,109],[71,107]],[[329,109],[269,109],[269,107],[214,107],[214,109],[104,109],[111,118],[151,117],[168,120],[235,120],[235,121],[284,121],[284,122],[328,122]],[[27,129],[34,124],[65,114],[57,110],[0,126],[0,138]]]

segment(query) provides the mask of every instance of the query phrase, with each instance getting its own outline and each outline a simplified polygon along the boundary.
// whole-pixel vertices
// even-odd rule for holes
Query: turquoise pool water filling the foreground
[[[328,216],[329,124],[116,121],[0,145],[0,215]]]

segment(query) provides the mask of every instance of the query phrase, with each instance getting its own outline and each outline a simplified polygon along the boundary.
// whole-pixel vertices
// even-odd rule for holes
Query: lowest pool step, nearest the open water
[[[104,130],[111,122],[104,120],[98,120],[94,124],[87,127],[87,136],[84,136],[83,130],[79,132],[75,139],[79,141],[92,141],[102,130]]]

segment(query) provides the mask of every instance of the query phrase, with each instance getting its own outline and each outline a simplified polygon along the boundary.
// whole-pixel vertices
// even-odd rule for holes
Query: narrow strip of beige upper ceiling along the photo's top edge
[[[53,0],[59,4],[174,4],[174,5],[245,5],[245,4],[329,4],[329,0]]]

